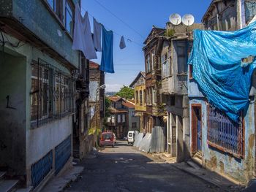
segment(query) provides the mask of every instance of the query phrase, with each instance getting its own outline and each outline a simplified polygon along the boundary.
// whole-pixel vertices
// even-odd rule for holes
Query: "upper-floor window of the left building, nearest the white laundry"
[[[73,36],[73,27],[74,27],[74,8],[70,0],[66,1],[65,7],[65,27],[69,34]]]

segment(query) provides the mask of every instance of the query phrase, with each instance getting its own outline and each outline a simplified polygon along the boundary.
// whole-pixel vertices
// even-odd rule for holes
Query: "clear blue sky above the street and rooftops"
[[[124,23],[111,15],[118,16]],[[191,13],[195,22],[200,23],[211,0],[82,0],[82,12],[89,12],[91,30],[93,28],[92,16],[105,28],[114,32],[113,62],[115,73],[105,75],[106,91],[118,91],[123,85],[129,85],[137,76],[138,72],[144,71],[143,42],[151,31],[152,26],[165,28],[170,14],[178,13],[181,16]],[[124,35],[132,40],[127,42],[124,50],[119,49],[119,42]],[[94,60],[100,64],[101,54],[97,53],[98,59]]]

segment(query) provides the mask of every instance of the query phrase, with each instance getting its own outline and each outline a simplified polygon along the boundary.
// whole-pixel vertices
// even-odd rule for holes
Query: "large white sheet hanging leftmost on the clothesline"
[[[82,18],[79,4],[75,5],[75,28],[72,49],[82,51],[87,59],[97,58],[91,36],[88,12]]]

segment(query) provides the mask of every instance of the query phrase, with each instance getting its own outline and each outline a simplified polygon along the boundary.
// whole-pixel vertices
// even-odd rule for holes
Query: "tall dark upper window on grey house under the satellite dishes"
[[[186,47],[184,43],[177,46],[178,74],[187,73]]]

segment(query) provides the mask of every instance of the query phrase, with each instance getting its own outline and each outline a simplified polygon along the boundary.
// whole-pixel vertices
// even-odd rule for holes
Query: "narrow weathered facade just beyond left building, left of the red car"
[[[99,70],[99,64],[90,61],[89,128],[90,133],[94,132],[94,140],[98,137],[96,130],[103,128],[105,117],[105,88],[101,88],[104,83],[105,74]]]

